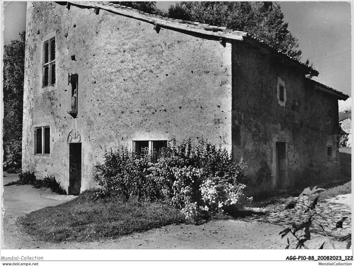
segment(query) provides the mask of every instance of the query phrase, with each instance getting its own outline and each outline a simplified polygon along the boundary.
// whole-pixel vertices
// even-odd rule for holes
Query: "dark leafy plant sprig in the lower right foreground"
[[[315,186],[311,190],[308,187],[304,189],[297,198],[291,197],[289,201],[286,203],[284,210],[295,209],[295,206],[301,205],[304,208],[303,213],[304,214],[308,213],[309,215],[308,218],[304,219],[300,224],[296,224],[295,222],[293,222],[292,227],[287,227],[286,229],[284,229],[279,233],[279,235],[281,235],[281,238],[284,238],[288,233],[291,233],[296,238],[296,246],[295,246],[296,249],[298,248],[308,249],[308,247],[306,246],[306,242],[313,239],[311,238],[310,227],[313,226],[314,224],[317,224],[322,229],[327,239],[329,240],[330,244],[332,245],[333,249],[335,249],[335,246],[333,245],[323,225],[318,220],[318,216],[320,216],[321,213],[318,212],[318,209],[316,209],[316,205],[318,204],[318,199],[319,199],[318,192],[320,191],[325,191],[325,189],[317,188],[317,186]],[[305,197],[307,197],[307,200]],[[343,222],[347,218],[348,217],[343,217],[341,221],[338,221],[336,223],[336,228],[343,228]],[[352,244],[351,234],[342,237],[341,241],[347,241],[348,242],[347,249],[349,249]],[[319,249],[323,249],[324,244],[325,242],[322,243]],[[289,249],[289,247],[290,247],[290,242],[289,242],[289,238],[287,238],[287,245],[285,249]]]

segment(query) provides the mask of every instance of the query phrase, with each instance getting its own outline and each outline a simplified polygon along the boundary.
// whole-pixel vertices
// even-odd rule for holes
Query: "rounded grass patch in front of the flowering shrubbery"
[[[98,198],[85,191],[73,201],[36,210],[19,219],[23,230],[41,241],[98,241],[184,222],[184,215],[162,203]]]

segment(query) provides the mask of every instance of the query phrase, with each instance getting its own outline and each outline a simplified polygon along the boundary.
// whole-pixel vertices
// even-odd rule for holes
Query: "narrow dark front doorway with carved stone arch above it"
[[[68,137],[69,143],[69,195],[79,195],[81,190],[81,137],[73,129]]]

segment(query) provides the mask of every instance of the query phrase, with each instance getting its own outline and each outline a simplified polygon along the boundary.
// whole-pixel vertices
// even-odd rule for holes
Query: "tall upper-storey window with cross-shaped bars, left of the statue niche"
[[[42,87],[55,83],[55,37],[43,43]]]

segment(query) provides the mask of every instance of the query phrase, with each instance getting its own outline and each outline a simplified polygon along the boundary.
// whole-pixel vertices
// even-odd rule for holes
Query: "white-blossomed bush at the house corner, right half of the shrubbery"
[[[162,185],[164,200],[182,208],[186,219],[207,211],[222,212],[223,207],[244,202],[244,163],[232,161],[225,149],[199,139],[176,145],[173,140],[159,160],[148,169],[150,177]]]

